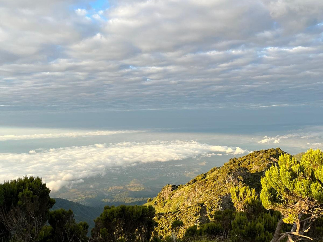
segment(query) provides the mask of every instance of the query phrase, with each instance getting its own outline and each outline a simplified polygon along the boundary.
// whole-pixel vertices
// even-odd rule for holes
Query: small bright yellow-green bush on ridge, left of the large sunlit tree
[[[236,186],[230,189],[230,193],[237,212],[253,213],[257,210],[261,210],[262,205],[255,189],[250,189],[247,186]]]

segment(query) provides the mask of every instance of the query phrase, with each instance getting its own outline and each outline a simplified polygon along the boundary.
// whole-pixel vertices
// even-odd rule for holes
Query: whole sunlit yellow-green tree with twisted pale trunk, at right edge
[[[300,162],[289,154],[281,155],[261,185],[264,207],[282,214],[271,241],[312,239],[306,233],[323,214],[323,152],[309,149]],[[293,224],[290,232],[281,233],[284,222]]]

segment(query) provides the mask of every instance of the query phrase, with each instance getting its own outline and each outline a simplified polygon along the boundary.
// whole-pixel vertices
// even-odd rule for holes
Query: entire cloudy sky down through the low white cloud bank
[[[0,182],[323,148],[322,50],[320,0],[0,0]]]

